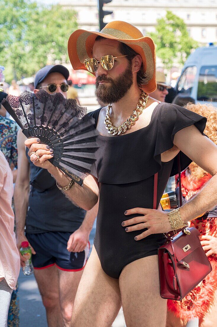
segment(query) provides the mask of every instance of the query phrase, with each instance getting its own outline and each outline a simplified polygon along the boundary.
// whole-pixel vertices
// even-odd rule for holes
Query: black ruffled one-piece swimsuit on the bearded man
[[[99,112],[100,109],[89,113],[96,125]],[[177,158],[163,163],[161,153],[173,147],[177,131],[193,124],[203,133],[206,118],[162,102],[153,110],[148,126],[129,134],[98,136],[99,149],[92,170],[100,183],[94,246],[103,270],[110,277],[119,278],[127,264],[157,254],[158,247],[165,242],[164,234],[152,234],[135,241],[138,231],[125,232],[122,222],[138,215],[125,216],[124,211],[136,207],[153,208],[156,172],[159,205],[169,176],[178,172]],[[181,152],[181,170],[190,163],[191,159]]]

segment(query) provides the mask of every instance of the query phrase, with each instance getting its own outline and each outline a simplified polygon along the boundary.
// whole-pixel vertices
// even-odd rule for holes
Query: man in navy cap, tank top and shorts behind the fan
[[[33,92],[62,93],[66,98],[68,77],[69,72],[64,66],[46,66],[37,72]],[[25,139],[20,130],[14,191],[17,246],[20,249],[21,243],[28,241],[32,248],[34,274],[46,309],[48,326],[69,327],[96,213],[86,213],[75,206],[57,188],[50,173],[29,160]],[[30,192],[29,183],[32,185]],[[22,266],[24,260],[21,256]]]

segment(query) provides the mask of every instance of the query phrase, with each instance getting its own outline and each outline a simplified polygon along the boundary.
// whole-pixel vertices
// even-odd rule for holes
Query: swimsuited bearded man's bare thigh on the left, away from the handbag
[[[110,327],[120,307],[118,280],[102,270],[93,247],[76,294],[71,327]]]

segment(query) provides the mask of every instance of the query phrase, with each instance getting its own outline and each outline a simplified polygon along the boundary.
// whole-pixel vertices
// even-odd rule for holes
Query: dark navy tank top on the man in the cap
[[[30,161],[27,153],[28,149],[26,156],[30,164],[30,181],[33,181],[41,168]],[[46,169],[43,169],[43,174],[45,183],[52,186],[46,189],[45,185],[42,192],[34,185],[30,187],[26,232],[74,232],[82,224],[86,211],[76,207],[65,197]]]

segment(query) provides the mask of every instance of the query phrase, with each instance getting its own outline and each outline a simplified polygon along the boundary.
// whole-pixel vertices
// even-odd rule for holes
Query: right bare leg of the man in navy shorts
[[[64,321],[64,327],[70,327],[75,296],[83,270],[57,270],[59,275],[60,309]]]

